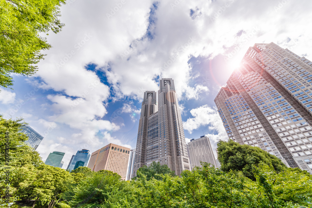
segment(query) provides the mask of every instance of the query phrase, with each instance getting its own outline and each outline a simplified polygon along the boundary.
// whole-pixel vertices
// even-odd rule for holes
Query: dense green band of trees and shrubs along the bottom
[[[118,174],[107,170],[93,172],[87,167],[79,167],[69,173],[43,164],[38,153],[23,143],[27,137],[18,133],[24,124],[21,119],[0,118],[1,156],[5,132],[10,135],[10,202],[15,202],[13,208],[19,207],[17,202],[28,202],[39,208],[311,206],[312,177],[306,172],[284,167],[278,159],[259,148],[248,148],[233,141],[220,142],[219,158],[227,169],[202,163],[202,167],[183,171],[178,177],[167,166],[152,163],[140,168],[134,180],[122,181]],[[226,160],[229,149],[233,154]],[[248,168],[244,169],[244,164]],[[1,161],[1,204],[6,187],[4,167],[7,165]]]

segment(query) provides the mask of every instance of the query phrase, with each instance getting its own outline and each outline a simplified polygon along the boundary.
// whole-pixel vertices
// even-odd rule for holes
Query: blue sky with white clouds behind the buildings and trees
[[[144,91],[172,78],[186,141],[227,140],[214,99],[247,49],[274,42],[312,60],[308,0],[68,0],[62,31],[33,76],[12,74],[0,114],[22,117],[37,148],[71,156],[108,143],[135,148]]]

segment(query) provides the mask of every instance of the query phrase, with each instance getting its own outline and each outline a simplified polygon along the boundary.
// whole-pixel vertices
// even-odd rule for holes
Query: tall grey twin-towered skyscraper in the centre
[[[144,92],[132,177],[140,167],[160,162],[180,175],[190,163],[173,79],[159,80],[156,92]]]

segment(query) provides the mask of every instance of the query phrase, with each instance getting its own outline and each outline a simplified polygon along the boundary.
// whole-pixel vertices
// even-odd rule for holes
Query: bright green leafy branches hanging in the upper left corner
[[[0,86],[13,85],[10,73],[33,75],[51,47],[42,33],[57,33],[65,0],[0,0]]]

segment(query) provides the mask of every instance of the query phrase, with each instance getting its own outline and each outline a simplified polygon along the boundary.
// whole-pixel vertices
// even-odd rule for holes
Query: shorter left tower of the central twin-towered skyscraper
[[[138,138],[136,144],[136,152],[134,159],[134,170],[132,177],[136,176],[136,172],[140,167],[146,163],[146,149],[147,149],[147,131],[149,116],[155,112],[156,109],[156,92],[144,92],[144,99],[141,108],[141,117],[139,121]]]

